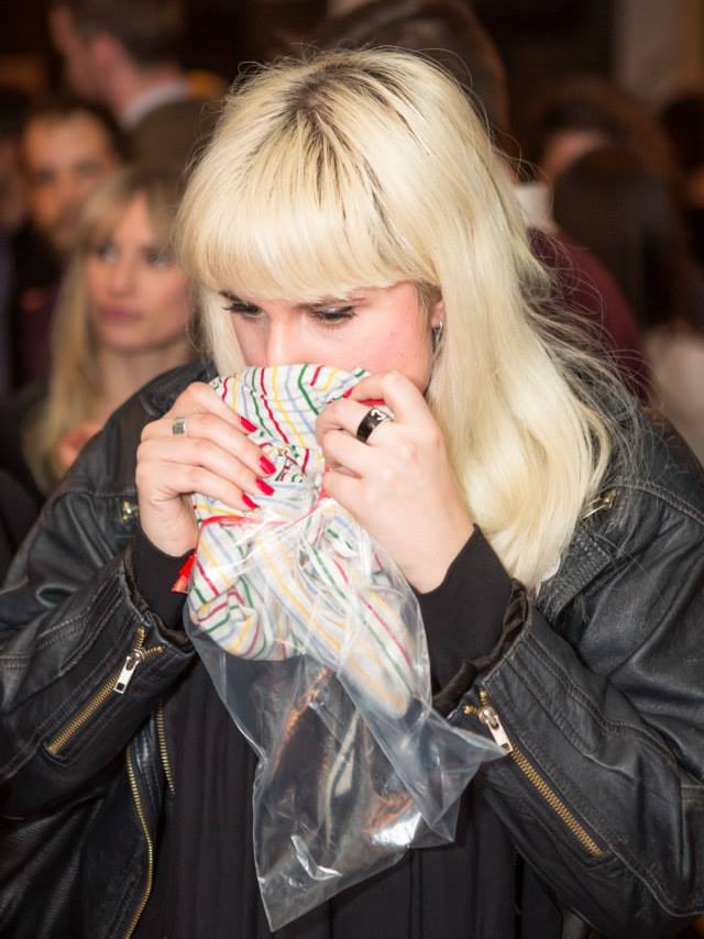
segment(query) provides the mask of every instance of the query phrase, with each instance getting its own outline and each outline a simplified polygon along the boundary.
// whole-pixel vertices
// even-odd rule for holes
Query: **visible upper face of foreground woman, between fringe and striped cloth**
[[[316,305],[227,291],[222,297],[248,365],[311,362],[346,371],[396,369],[421,390],[430,380],[430,329],[443,318],[442,302],[426,314],[415,285],[407,280]]]

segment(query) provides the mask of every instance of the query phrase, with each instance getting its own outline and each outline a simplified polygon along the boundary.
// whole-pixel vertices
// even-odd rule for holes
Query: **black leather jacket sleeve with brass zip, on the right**
[[[663,466],[663,479],[678,472]],[[704,909],[695,485],[614,490],[608,518],[582,523],[564,570],[454,716],[505,734],[507,756],[477,777],[487,800],[558,902],[607,937],[671,936]]]

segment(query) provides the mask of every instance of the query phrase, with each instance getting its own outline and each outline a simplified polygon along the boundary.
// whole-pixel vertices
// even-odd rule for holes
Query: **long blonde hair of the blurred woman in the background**
[[[47,395],[23,433],[28,464],[43,491],[51,490],[63,474],[56,448],[59,438],[94,417],[92,407],[103,390],[86,265],[141,194],[146,199],[155,245],[169,250],[180,196],[177,179],[170,173],[143,167],[120,169],[96,189],[81,212],[53,316]]]

